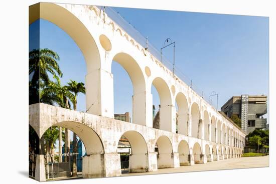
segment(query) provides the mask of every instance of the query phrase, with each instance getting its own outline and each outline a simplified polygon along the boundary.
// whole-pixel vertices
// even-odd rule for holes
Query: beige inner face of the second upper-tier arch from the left
[[[124,68],[132,82],[132,122],[146,125],[146,96],[143,95],[146,81],[142,69],[133,57],[124,52],[115,54],[113,61]]]

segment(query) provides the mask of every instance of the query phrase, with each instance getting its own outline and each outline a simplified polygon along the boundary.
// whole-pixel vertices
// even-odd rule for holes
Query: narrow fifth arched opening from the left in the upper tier
[[[200,110],[197,103],[193,103],[191,107],[192,115],[192,137],[201,138],[201,126]]]

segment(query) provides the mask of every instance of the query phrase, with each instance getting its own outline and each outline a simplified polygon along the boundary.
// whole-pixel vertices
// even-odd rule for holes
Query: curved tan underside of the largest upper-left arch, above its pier
[[[29,25],[44,19],[64,30],[80,48],[85,58],[87,73],[100,68],[100,55],[95,39],[71,12],[54,3],[39,3],[30,7],[29,15]]]

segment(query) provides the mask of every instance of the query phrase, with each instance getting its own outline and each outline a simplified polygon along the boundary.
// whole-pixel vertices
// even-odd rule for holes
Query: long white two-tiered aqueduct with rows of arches
[[[29,24],[48,20],[63,29],[82,51],[86,66],[87,113],[42,103],[29,106],[29,123],[39,138],[51,126],[74,131],[83,141],[83,177],[120,176],[117,145],[124,135],[132,149],[130,172],[206,163],[243,152],[245,134],[94,6],[39,3],[30,6]],[[132,122],[113,119],[116,61],[132,85]],[[85,74],[84,74],[85,75]],[[160,96],[160,129],[153,127],[151,86]],[[176,133],[176,108],[179,121]],[[155,145],[158,152],[155,152]],[[36,179],[45,180],[44,155]]]

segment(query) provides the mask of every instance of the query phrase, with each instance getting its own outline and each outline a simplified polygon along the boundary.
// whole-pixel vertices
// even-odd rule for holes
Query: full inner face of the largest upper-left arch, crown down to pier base
[[[82,8],[84,9],[84,7]],[[83,25],[82,20],[79,20],[84,17],[79,16],[77,18],[66,8],[53,3],[39,3],[30,6],[29,12],[29,25],[39,19],[47,20],[61,28],[77,44],[83,54],[87,69],[85,80],[86,109],[84,111],[87,110],[88,113],[102,115],[101,108],[99,107],[101,104],[98,99],[100,95],[100,91],[98,90],[100,87],[98,82],[100,81],[100,71],[98,70],[101,67],[100,55],[93,36]],[[39,39],[38,36],[37,40]]]

